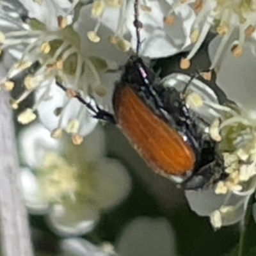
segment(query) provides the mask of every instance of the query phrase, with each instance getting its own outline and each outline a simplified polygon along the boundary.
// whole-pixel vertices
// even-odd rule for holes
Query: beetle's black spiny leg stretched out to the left
[[[56,85],[60,87],[64,92],[66,92],[68,95],[76,98],[79,102],[81,102],[81,104],[86,106],[86,108],[88,108],[93,113],[92,114],[93,118],[96,118],[105,122],[109,122],[111,124],[116,124],[115,116],[113,114],[100,108],[100,106],[97,105],[96,103],[92,104],[91,102],[86,101],[85,99],[83,99],[83,97],[80,95],[79,92],[66,88],[57,79],[56,79]]]

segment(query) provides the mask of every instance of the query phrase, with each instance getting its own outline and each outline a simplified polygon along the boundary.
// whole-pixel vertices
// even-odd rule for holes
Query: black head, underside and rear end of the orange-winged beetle
[[[184,143],[193,148],[196,163],[191,175],[182,183],[184,189],[203,188],[225,177],[223,159],[217,152],[218,143],[211,140],[209,134],[205,134],[198,125],[204,121],[189,111],[180,92],[175,88],[164,87],[154,72],[136,56],[127,62],[124,74],[116,83],[114,105],[115,97],[118,97],[116,92],[122,90],[125,84],[129,84],[148,108],[179,132]]]

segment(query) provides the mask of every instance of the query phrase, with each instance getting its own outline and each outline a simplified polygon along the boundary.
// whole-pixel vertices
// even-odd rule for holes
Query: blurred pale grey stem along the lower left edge
[[[3,256],[33,256],[9,95],[0,92],[0,225]]]

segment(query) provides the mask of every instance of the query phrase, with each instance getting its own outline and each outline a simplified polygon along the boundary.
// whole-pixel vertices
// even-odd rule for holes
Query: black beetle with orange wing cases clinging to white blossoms
[[[118,125],[155,172],[179,177],[182,188],[201,189],[223,179],[218,143],[202,129],[204,120],[186,106],[184,94],[191,81],[181,93],[164,86],[138,54],[142,28],[138,0],[134,1],[134,27],[136,54],[129,58],[115,84],[114,113],[92,106],[78,93],[75,97],[93,111],[93,117]]]

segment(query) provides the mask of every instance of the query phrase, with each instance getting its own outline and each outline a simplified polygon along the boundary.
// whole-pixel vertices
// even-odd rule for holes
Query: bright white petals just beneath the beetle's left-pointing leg
[[[55,81],[47,81],[40,86],[36,91],[36,104],[40,121],[54,138],[60,138],[61,131],[66,131],[77,144],[77,136],[88,135],[97,125],[97,119],[92,117],[93,114],[88,112],[86,106],[76,98],[68,98]]]

